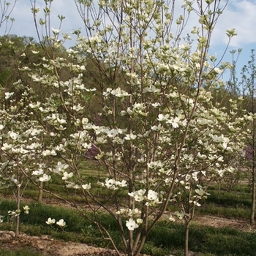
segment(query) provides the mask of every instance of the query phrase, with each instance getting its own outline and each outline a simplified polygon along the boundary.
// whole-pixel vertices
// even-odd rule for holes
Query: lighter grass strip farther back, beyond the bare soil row
[[[93,182],[104,182],[105,178],[108,174],[104,170],[97,170],[97,166],[92,165],[91,161],[83,161],[83,167],[80,169],[80,175],[90,181]],[[138,181],[136,183],[136,187],[141,187],[140,177],[138,177]],[[225,182],[222,182],[225,185]],[[61,177],[57,175],[53,175],[51,180],[45,184],[45,189],[50,190],[50,192],[58,193],[62,198],[69,200],[73,200],[76,202],[83,202],[83,198],[81,198],[80,189],[72,189],[65,190],[66,184],[61,179]],[[23,185],[21,185],[20,190],[22,191],[23,197],[33,198],[34,200],[38,199],[39,189],[32,183],[29,182],[28,179],[24,178]],[[102,195],[102,189],[99,187],[99,192]],[[1,195],[4,197],[10,196],[13,194],[13,187],[2,187],[0,191]],[[245,183],[244,180],[239,180],[236,186],[234,186],[230,190],[226,189],[218,189],[217,184],[211,184],[208,187],[208,194],[210,196],[204,198],[201,201],[202,206],[208,205],[209,203],[214,203],[217,206],[234,206],[236,208],[239,207],[251,207],[252,205],[252,188],[249,186],[248,182]],[[48,193],[44,194],[45,198],[54,198],[53,195]],[[121,195],[121,197],[125,197],[125,195]],[[197,208],[197,211],[200,211],[200,208]]]

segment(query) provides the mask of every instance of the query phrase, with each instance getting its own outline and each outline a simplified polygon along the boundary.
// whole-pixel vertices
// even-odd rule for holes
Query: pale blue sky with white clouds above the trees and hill
[[[3,2],[4,0],[0,1]],[[12,3],[15,0],[8,1]],[[183,0],[176,1],[179,3],[183,2]],[[220,1],[224,3],[226,0]],[[37,6],[40,9],[39,13],[41,13],[42,8],[45,6],[45,1],[37,0]],[[178,13],[178,8],[176,8],[176,12]],[[59,26],[58,15],[66,17],[61,31],[70,33],[74,29],[83,28],[83,22],[75,7],[74,0],[53,0],[51,24],[55,29]],[[26,35],[37,39],[30,0],[18,0],[10,17],[15,18],[11,34],[17,34],[18,36]],[[197,17],[192,17],[189,20],[189,26],[197,26],[197,20]],[[225,31],[226,29],[233,28],[236,29],[238,35],[231,39],[225,60],[231,60],[230,50],[241,48],[241,56],[238,59],[238,69],[240,70],[249,61],[251,50],[256,50],[256,0],[230,0],[228,2],[214,29],[211,41],[212,54],[216,53],[217,56],[222,56],[223,50],[225,50],[227,45]],[[1,32],[0,30],[0,34]],[[69,42],[65,46],[68,48],[72,44],[75,44],[75,41]]]

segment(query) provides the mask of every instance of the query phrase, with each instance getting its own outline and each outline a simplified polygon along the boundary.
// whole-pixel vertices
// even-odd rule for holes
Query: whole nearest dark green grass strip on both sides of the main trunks
[[[1,214],[10,208],[15,208],[15,202],[2,200],[0,204]],[[47,234],[53,238],[75,241],[95,246],[110,247],[109,241],[103,239],[96,225],[80,216],[77,211],[69,208],[46,206],[40,203],[31,203],[28,214],[20,214],[22,224],[20,229],[31,235],[40,236]],[[211,211],[213,208],[211,208]],[[224,217],[225,217],[225,213]],[[249,214],[249,209],[247,209]],[[63,219],[65,225],[57,225],[50,222],[55,219],[58,222]],[[118,248],[123,250],[118,225],[115,219],[104,212],[98,213],[101,223],[115,238]],[[13,229],[11,219],[4,219],[1,229]],[[151,256],[163,256],[170,253],[181,253],[184,246],[184,224],[182,222],[159,222],[148,235],[143,253]],[[216,244],[218,246],[216,246]],[[201,255],[254,255],[256,249],[256,233],[246,233],[231,227],[214,228],[192,224],[189,236],[189,248]]]

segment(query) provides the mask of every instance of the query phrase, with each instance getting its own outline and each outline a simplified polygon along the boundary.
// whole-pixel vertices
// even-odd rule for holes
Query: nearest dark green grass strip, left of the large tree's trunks
[[[24,204],[21,204],[23,207]],[[95,244],[97,246],[109,246],[108,241],[105,241],[97,230],[95,225],[78,214],[75,209],[62,208],[57,206],[47,206],[41,203],[29,204],[29,214],[20,214],[20,231],[27,233],[30,236],[40,236],[42,234],[53,236],[53,238],[63,239],[64,241],[75,241],[86,244]],[[15,209],[15,202],[10,200],[1,200],[0,203],[0,215],[6,215],[7,211]],[[113,218],[106,216],[105,214],[87,214],[91,218],[100,218],[102,225],[108,228],[108,231],[116,237],[118,244],[121,244],[120,236],[118,235],[117,225]],[[64,219],[67,226],[64,227],[63,232],[56,224],[53,228],[50,228],[45,222],[48,218],[52,219]],[[4,223],[0,225],[2,230],[14,230],[14,224],[8,222],[7,217],[4,219]],[[114,231],[113,231],[114,230]]]

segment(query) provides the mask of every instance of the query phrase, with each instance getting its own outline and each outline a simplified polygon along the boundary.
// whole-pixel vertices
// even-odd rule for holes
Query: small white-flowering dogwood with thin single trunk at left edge
[[[16,84],[18,86],[18,83]],[[1,154],[0,154],[0,189],[11,188],[15,194],[16,209],[10,211],[9,214],[12,219],[15,218],[16,230],[15,235],[19,235],[20,222],[20,200],[22,191],[26,188],[27,180],[24,180],[23,170],[19,165],[23,165],[26,172],[28,167],[33,165],[34,154],[37,151],[39,143],[35,144],[35,140],[30,142],[31,136],[38,136],[40,130],[37,130],[34,121],[25,121],[27,118],[24,107],[27,94],[23,94],[22,99],[12,99],[14,94],[10,92],[3,92],[1,98],[1,124],[0,124],[0,140],[1,140]],[[39,138],[38,138],[39,139]],[[37,139],[37,140],[38,140]],[[25,184],[23,184],[25,182]],[[23,208],[25,214],[29,214],[29,207]]]

